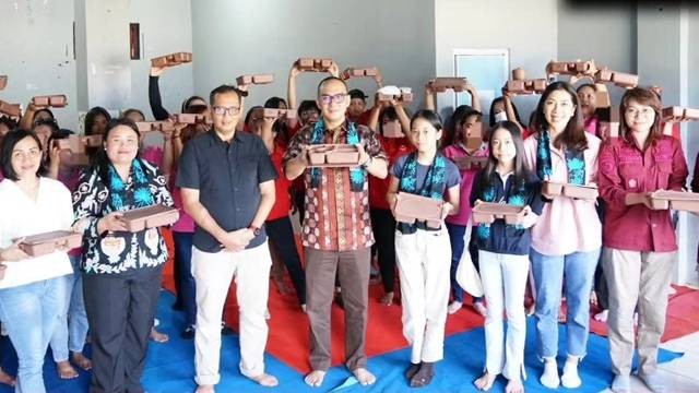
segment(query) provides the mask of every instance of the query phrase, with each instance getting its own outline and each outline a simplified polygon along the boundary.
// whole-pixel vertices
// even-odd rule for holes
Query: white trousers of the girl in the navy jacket
[[[524,290],[529,276],[529,255],[499,254],[478,250],[481,282],[488,312],[485,318],[485,369],[502,372],[509,380],[524,376],[526,317]],[[502,310],[507,314],[503,337]]]

